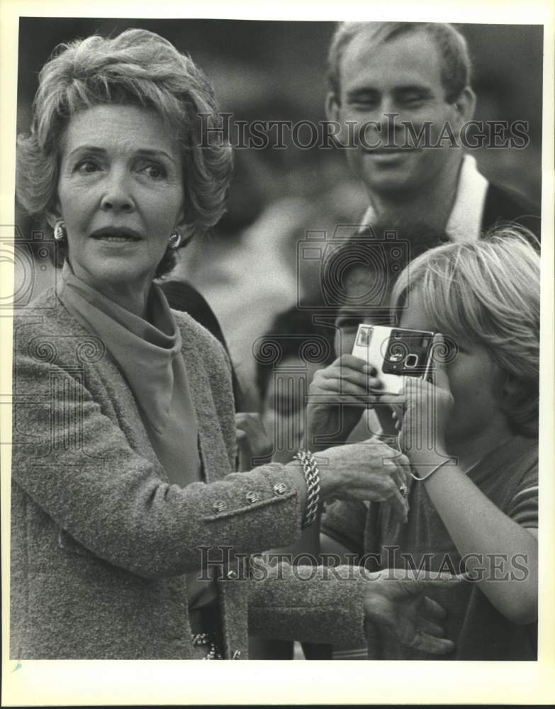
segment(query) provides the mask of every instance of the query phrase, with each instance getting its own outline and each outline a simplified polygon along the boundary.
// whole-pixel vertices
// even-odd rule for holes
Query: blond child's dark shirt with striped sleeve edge
[[[536,439],[513,437],[488,453],[467,475],[505,515],[522,527],[537,528]],[[321,529],[353,552],[369,554],[366,566],[372,571],[392,566],[464,571],[464,561],[427,496],[425,486],[410,486],[409,504],[408,522],[403,524],[396,520],[389,505],[371,503],[366,509],[363,503],[338,501],[327,508]],[[479,549],[476,552],[479,553]],[[508,583],[517,583],[527,572],[525,559],[516,556],[524,555],[515,555],[515,559],[508,559],[508,565],[505,564],[504,571],[512,576]],[[481,563],[486,574],[496,573],[495,559],[483,555]],[[447,637],[456,643],[455,651],[442,659],[537,658],[537,624],[510,623],[477,584],[464,583],[456,589],[440,591],[434,598],[447,610]],[[369,633],[369,643],[372,659],[430,659],[428,654],[381,636],[377,629]]]

